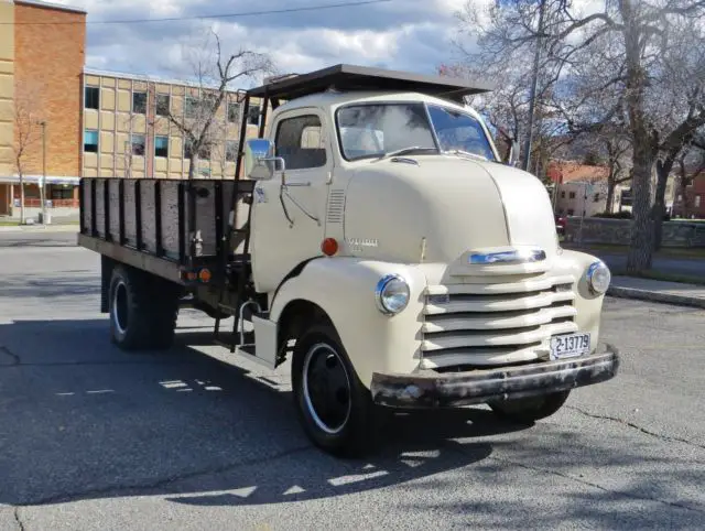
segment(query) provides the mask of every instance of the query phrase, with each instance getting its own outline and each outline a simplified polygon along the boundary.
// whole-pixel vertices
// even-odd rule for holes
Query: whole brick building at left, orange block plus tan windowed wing
[[[188,174],[189,147],[166,112],[188,117],[208,87],[86,68],[85,48],[84,10],[0,0],[0,216],[20,216],[21,147],[31,218],[41,212],[42,183],[47,213],[77,218],[82,176]],[[200,152],[196,176],[235,174],[241,96],[230,91],[220,107],[213,147]],[[258,104],[250,104],[248,137],[257,136]]]

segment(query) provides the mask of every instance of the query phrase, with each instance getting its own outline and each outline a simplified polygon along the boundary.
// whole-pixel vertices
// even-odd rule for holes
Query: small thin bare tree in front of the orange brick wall
[[[36,87],[20,85],[14,96],[14,166],[20,178],[20,224],[24,225],[24,176],[34,145],[41,139],[41,113],[36,110]],[[43,189],[43,186],[40,187]],[[44,201],[42,194],[42,201]]]

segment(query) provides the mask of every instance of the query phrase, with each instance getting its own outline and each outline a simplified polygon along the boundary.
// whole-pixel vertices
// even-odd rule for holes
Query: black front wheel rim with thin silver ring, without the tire
[[[308,349],[303,369],[304,400],[316,425],[340,432],[350,416],[350,379],[338,353],[326,344]]]

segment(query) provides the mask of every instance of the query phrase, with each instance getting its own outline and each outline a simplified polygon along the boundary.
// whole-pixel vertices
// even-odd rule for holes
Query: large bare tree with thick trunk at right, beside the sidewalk
[[[564,0],[496,2],[484,14],[488,22],[475,33],[486,55],[512,54],[527,62],[536,43],[542,46],[543,85],[554,87],[554,104],[568,128],[579,123],[579,129],[589,130],[623,119],[632,145],[634,192],[627,269],[639,272],[651,267],[655,162],[662,155],[666,170],[672,153],[677,154],[676,149],[705,123],[699,67],[705,0],[604,0],[589,9],[586,14]],[[465,12],[478,10],[470,2]],[[668,63],[676,62],[688,65],[679,69],[676,87],[687,105],[671,108],[671,120],[659,120],[663,89],[674,84]],[[657,198],[663,195],[657,189]]]

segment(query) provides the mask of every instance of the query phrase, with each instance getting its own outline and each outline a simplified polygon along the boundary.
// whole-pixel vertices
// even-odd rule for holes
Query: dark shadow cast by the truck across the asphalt
[[[335,459],[303,436],[288,372],[258,375],[195,350],[210,337],[203,329],[159,354],[122,353],[107,329],[107,319],[0,325],[0,505],[325,498],[463,468],[491,445],[449,437],[517,430],[481,410],[402,415],[378,454]]]

